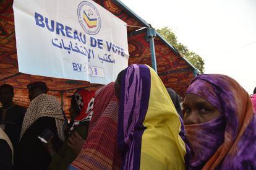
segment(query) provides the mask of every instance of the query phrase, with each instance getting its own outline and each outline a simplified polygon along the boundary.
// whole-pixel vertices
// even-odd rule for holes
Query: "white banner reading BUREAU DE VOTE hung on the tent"
[[[93,1],[15,0],[19,72],[107,84],[127,67],[126,23]]]

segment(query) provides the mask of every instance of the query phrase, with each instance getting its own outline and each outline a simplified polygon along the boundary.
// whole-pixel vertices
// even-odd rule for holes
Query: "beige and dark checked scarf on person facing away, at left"
[[[27,112],[23,119],[22,130],[20,132],[20,139],[25,131],[40,117],[53,117],[55,118],[56,127],[58,130],[59,138],[64,141],[64,116],[61,110],[61,104],[56,97],[41,94],[34,98],[28,106]]]

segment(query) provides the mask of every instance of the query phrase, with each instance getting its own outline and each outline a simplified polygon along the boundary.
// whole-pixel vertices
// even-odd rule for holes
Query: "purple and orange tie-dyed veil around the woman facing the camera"
[[[192,80],[186,93],[200,96],[223,114],[210,122],[185,127],[190,142],[197,146],[194,150],[208,154],[206,161],[198,166],[203,169],[256,169],[256,114],[244,88],[226,75],[204,74]],[[192,158],[192,169],[195,169],[194,161],[200,159]]]

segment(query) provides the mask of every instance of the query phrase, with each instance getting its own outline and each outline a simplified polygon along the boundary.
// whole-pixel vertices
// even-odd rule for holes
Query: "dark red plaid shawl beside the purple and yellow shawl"
[[[88,137],[69,169],[120,169],[117,148],[118,100],[114,83],[96,91]]]

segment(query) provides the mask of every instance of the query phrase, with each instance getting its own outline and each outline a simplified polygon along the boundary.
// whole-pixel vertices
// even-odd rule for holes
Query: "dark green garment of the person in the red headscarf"
[[[74,130],[72,130],[72,132],[76,131],[80,135],[80,137],[86,140],[88,134],[88,127],[89,122],[84,121],[77,125],[77,127],[75,127]],[[67,146],[67,142],[68,138],[65,140],[65,142],[59,149],[58,153],[53,155],[48,170],[66,170],[69,168],[69,165],[72,163],[72,161],[74,161],[75,158],[77,158],[77,155],[75,155],[74,151],[72,151],[71,148]]]

